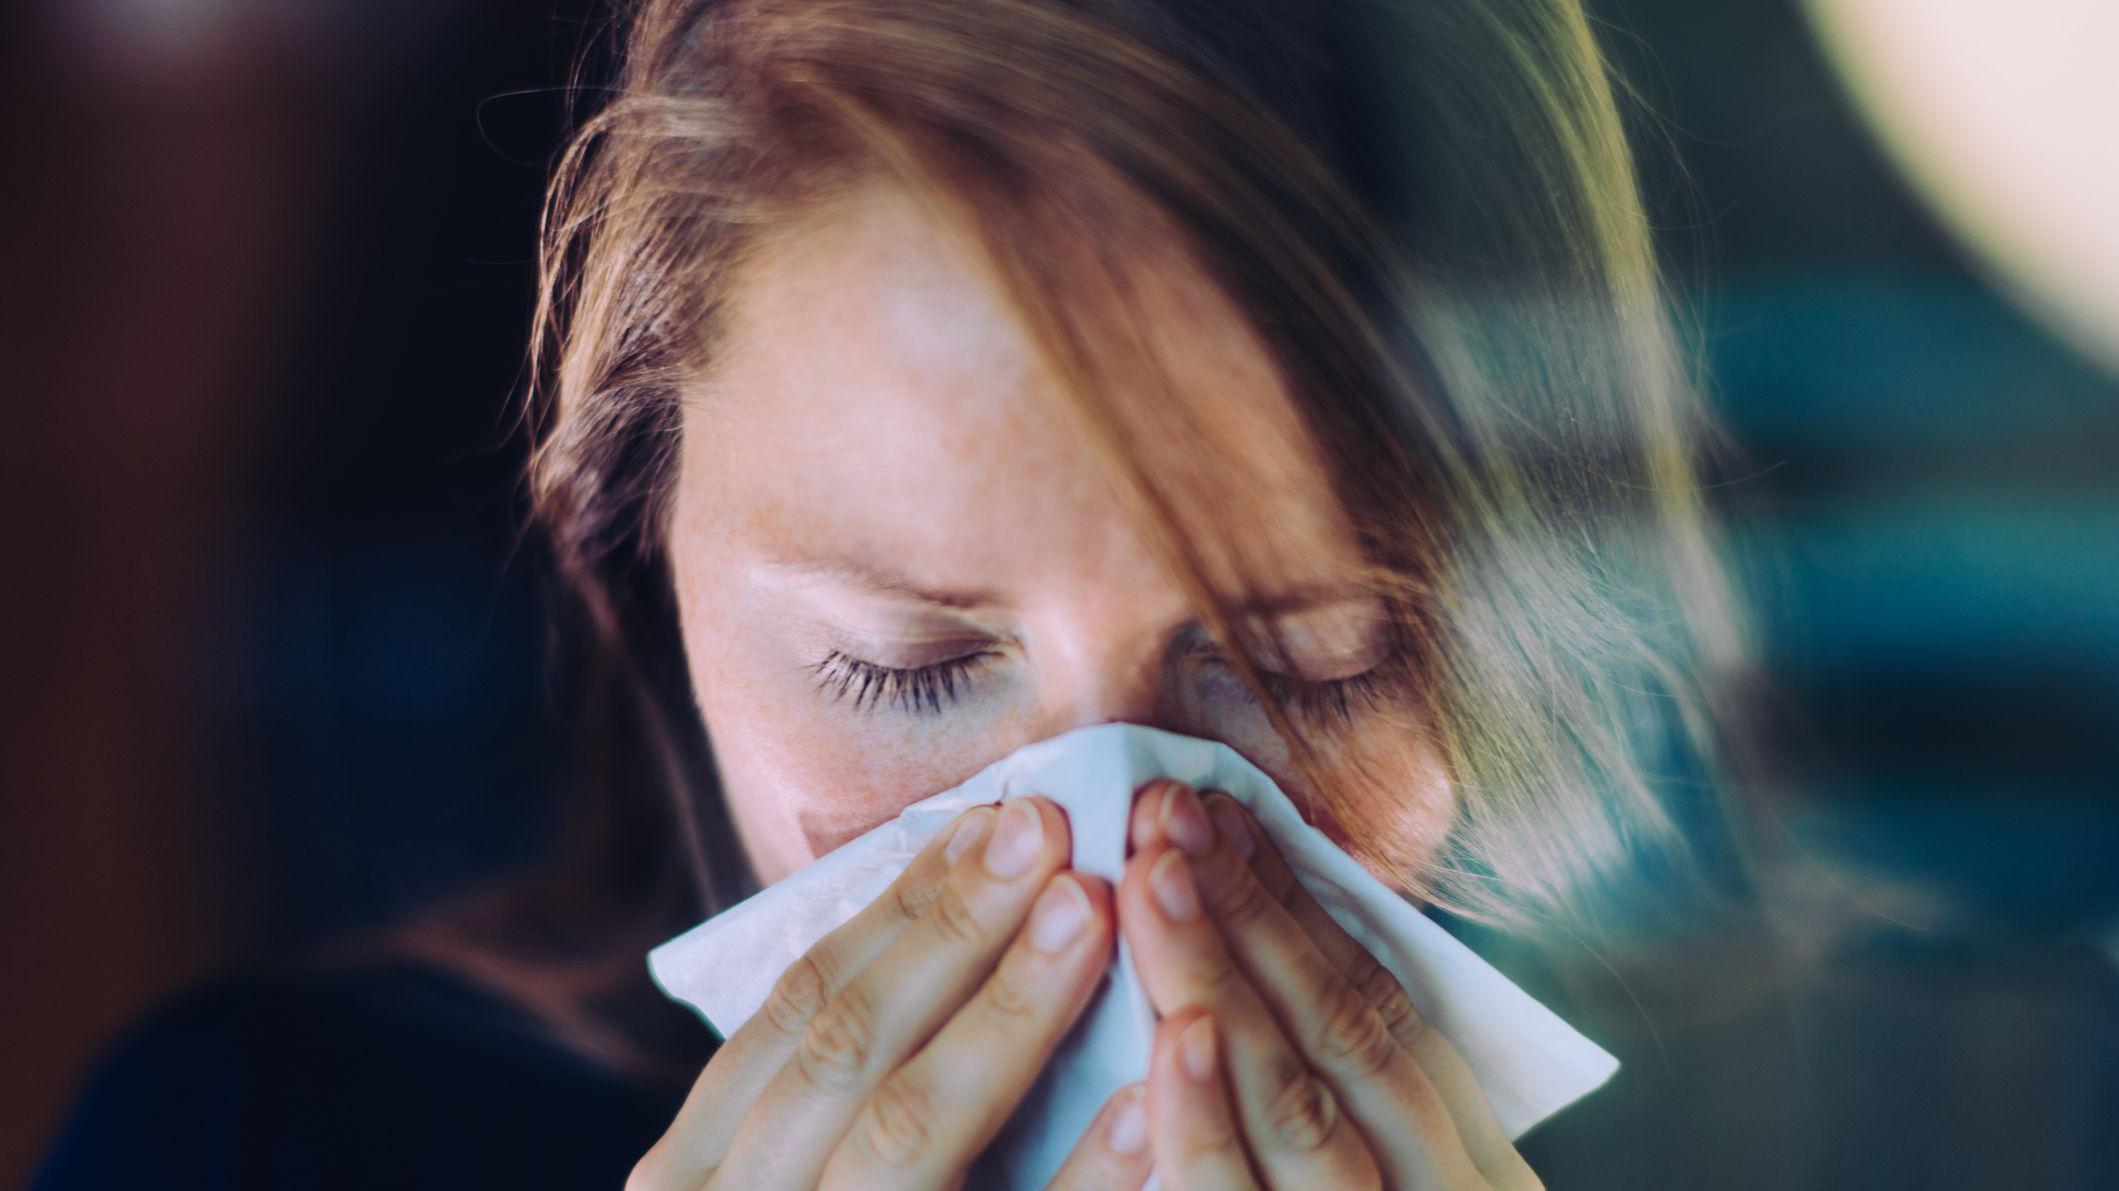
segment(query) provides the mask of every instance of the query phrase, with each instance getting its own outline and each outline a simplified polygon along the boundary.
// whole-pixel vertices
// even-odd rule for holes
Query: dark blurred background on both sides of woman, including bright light
[[[1742,447],[1714,492],[1788,710],[1788,892],[1833,922],[1801,979],[1657,1034],[1632,1110],[1668,1144],[1600,1185],[1738,1155],[1757,1187],[2115,1187],[2119,216],[2066,218],[2119,210],[2068,201],[2113,182],[2119,110],[2047,95],[2017,125],[2047,180],[1892,55],[1924,49],[1894,15],[1949,4],[1591,8]],[[2045,45],[2119,53],[2091,2],[2049,8],[2085,23]],[[1981,72],[1992,11],[1928,21],[1979,110],[2064,76]],[[148,1005],[553,846],[511,401],[593,13],[11,19],[0,1185]]]

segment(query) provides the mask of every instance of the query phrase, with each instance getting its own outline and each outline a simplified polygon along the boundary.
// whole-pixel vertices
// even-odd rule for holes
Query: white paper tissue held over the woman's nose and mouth
[[[1384,886],[1305,824],[1271,778],[1233,748],[1138,725],[1096,725],[1023,746],[975,778],[818,858],[756,896],[655,947],[648,971],[723,1036],[765,1005],[780,973],[875,901],[958,812],[1019,795],[1066,807],[1074,867],[1110,882],[1125,865],[1134,790],[1176,778],[1250,807],[1303,888],[1367,947],[1485,1089],[1509,1138],[1593,1091],[1619,1060]],[[1104,1100],[1144,1079],[1155,1011],[1121,943],[1110,979],[996,1138],[1007,1185],[1045,1187]]]

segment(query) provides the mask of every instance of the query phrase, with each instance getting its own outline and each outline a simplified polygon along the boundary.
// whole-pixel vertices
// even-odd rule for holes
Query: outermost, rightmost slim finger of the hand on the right
[[[1479,1087],[1479,1077],[1471,1072],[1464,1055],[1449,1045],[1449,1038],[1441,1030],[1435,1030],[1426,1015],[1413,1007],[1399,977],[1390,975],[1390,968],[1379,964],[1367,947],[1348,935],[1310,896],[1310,890],[1295,879],[1295,871],[1250,810],[1229,795],[1218,793],[1208,795],[1206,803],[1216,835],[1235,841],[1240,852],[1248,841],[1250,875],[1295,920],[1295,926],[1318,947],[1326,962],[1339,968],[1346,983],[1360,992],[1369,1005],[1375,1005],[1390,1036],[1426,1072],[1435,1091],[1441,1094],[1443,1104],[1449,1108],[1449,1119],[1456,1121],[1458,1136],[1462,1136],[1473,1161],[1490,1176],[1519,1168],[1521,1157],[1494,1119],[1494,1108],[1485,1100],[1485,1089]]]

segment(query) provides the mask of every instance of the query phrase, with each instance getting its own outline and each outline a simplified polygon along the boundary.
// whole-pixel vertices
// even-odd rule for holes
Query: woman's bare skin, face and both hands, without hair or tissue
[[[1193,490],[1246,534],[1208,564],[1244,576],[1246,615],[1280,619],[1284,678],[1386,670],[1356,538],[1267,356],[1182,259],[1151,256],[1153,350],[1221,428],[1151,466],[1216,460]],[[812,212],[740,280],[684,411],[670,555],[761,879],[1089,723],[1223,740],[1303,797],[1053,386],[898,191]],[[1386,774],[1399,829],[1432,843],[1452,790],[1405,731],[1415,706],[1384,687],[1297,714],[1326,761]],[[1053,803],[966,812],[786,973],[634,1185],[960,1183],[1123,930],[1163,1026],[1148,1081],[1106,1104],[1060,1187],[1138,1187],[1151,1166],[1165,1187],[1534,1187],[1462,1060],[1218,803],[1142,790],[1117,890],[1066,867]]]

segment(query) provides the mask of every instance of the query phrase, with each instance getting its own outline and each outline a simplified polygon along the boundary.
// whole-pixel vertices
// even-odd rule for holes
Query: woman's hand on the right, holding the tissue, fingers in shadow
[[[1235,799],[1155,782],[1132,843],[1119,924],[1161,1015],[1163,1187],[1541,1187],[1464,1060]]]

